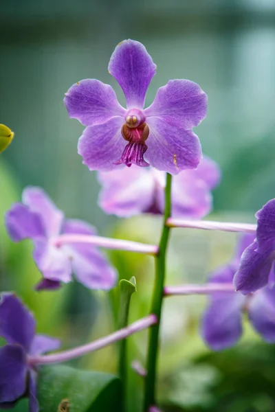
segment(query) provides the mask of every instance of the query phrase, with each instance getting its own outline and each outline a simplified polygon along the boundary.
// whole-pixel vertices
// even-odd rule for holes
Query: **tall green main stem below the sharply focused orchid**
[[[166,271],[166,249],[170,232],[170,227],[166,226],[165,223],[166,220],[170,217],[171,213],[171,183],[172,176],[167,173],[165,187],[164,223],[162,228],[162,236],[159,242],[159,253],[155,258],[155,286],[151,307],[151,313],[154,313],[159,321],[156,325],[150,328],[149,332],[147,376],[145,380],[144,394],[144,412],[148,412],[149,408],[155,405],[155,382],[157,375],[157,354],[159,346],[159,322],[162,315],[162,299]]]

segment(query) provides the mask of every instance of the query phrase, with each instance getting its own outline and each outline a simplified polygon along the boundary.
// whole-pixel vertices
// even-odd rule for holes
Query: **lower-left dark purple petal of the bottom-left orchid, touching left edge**
[[[27,363],[21,345],[0,348],[0,404],[13,402],[25,393]]]

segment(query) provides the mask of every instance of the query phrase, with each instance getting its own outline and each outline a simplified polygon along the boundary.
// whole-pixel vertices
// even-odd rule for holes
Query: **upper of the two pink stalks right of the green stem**
[[[213,222],[211,220],[184,220],[168,218],[168,227],[190,227],[192,229],[221,230],[254,233],[257,226],[250,223]]]

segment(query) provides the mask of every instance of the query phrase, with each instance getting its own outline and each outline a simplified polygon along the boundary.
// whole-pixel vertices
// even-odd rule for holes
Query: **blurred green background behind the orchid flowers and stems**
[[[96,172],[82,165],[76,145],[83,127],[69,119],[63,95],[76,81],[98,78],[124,96],[107,71],[117,43],[144,43],[157,64],[146,102],[169,79],[188,78],[208,94],[208,117],[196,129],[203,151],[218,161],[223,181],[212,218],[253,222],[275,192],[274,0],[1,0],[0,123],[15,132],[0,158],[0,213],[25,185],[40,185],[68,217],[100,234],[157,242],[159,219],[118,220],[97,206]],[[236,237],[179,229],[173,233],[168,283],[203,282],[229,260]],[[113,293],[69,284],[34,293],[39,273],[31,245],[12,244],[0,225],[0,290],[16,290],[35,312],[39,331],[72,347],[114,328]],[[150,258],[109,253],[120,277],[137,278],[131,320],[147,314],[153,282]],[[110,299],[109,299],[110,298]],[[201,297],[167,299],[159,398],[164,411],[275,411],[275,350],[250,326],[232,350],[213,354],[199,338]],[[144,362],[146,334],[129,340],[130,359]],[[115,347],[81,367],[115,371]],[[131,371],[129,411],[140,411],[142,379]],[[25,403],[17,411],[23,411]],[[15,410],[15,409],[14,409]]]

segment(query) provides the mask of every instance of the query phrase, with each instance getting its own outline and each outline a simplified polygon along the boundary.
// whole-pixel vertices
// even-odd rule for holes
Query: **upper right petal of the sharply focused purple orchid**
[[[155,100],[144,110],[146,119],[156,116],[171,126],[190,130],[206,117],[207,95],[190,80],[169,80],[159,87]]]

